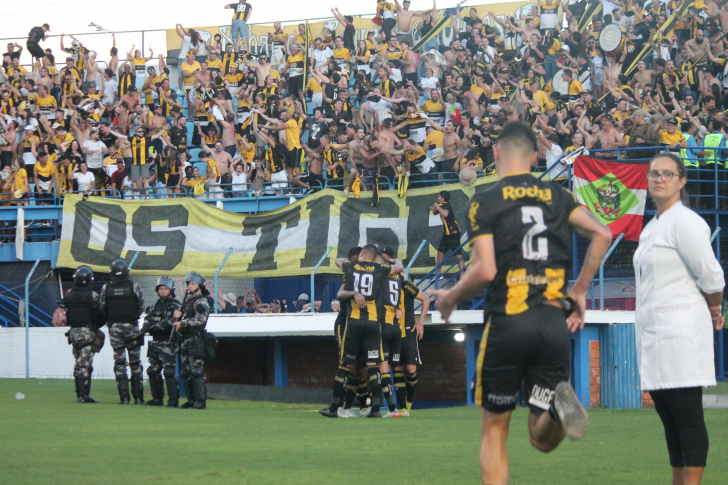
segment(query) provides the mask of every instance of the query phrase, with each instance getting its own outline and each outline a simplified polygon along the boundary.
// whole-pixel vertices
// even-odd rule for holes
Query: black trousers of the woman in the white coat
[[[684,387],[650,391],[665,428],[670,466],[705,467],[708,430],[703,416],[703,388]]]

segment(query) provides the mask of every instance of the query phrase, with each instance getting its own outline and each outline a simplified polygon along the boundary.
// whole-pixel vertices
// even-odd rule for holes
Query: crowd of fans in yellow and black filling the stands
[[[583,28],[584,1],[541,0],[525,18],[490,12],[485,23],[476,9],[458,9],[449,47],[435,39],[417,52],[414,31],[426,36],[446,15],[436,5],[415,12],[407,0],[379,2],[383,27],[358,43],[353,18],[334,8],[340,32],[304,24],[287,32],[276,22],[270,50],[258,54],[247,50],[252,6],[240,0],[225,7],[233,10],[232,44],[176,26],[175,88],[169,59],[155,59],[151,48],[144,57],[132,46],[120,59],[114,43],[102,69],[96,52],[73,37],[64,45],[62,36],[63,66],[45,49],[26,70],[23,47],[9,44],[0,71],[0,192],[26,205],[30,183],[40,200],[129,188],[141,198],[326,185],[358,194],[409,176],[472,184],[492,171],[499,130],[515,120],[536,132],[542,168],[582,149],[649,158],[613,149],[658,145],[692,168],[720,162],[728,11],[699,0],[661,29],[682,2],[601,3]],[[600,33],[610,24],[624,38],[605,52]],[[36,29],[38,41],[50,28]],[[192,163],[197,157],[201,164]],[[694,190],[711,195],[709,185]]]

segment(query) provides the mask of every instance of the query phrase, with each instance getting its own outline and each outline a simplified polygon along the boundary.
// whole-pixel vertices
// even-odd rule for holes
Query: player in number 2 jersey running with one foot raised
[[[565,436],[576,440],[587,430],[589,417],[568,383],[569,330],[584,326],[586,291],[612,235],[573,194],[529,173],[537,157],[529,126],[506,125],[493,154],[500,181],[476,194],[466,210],[472,264],[450,290],[431,293],[447,321],[458,302],[490,283],[475,401],[483,406],[483,483],[502,485],[509,479],[506,439],[521,382],[530,395],[534,448],[548,453]],[[564,298],[571,230],[591,242]]]

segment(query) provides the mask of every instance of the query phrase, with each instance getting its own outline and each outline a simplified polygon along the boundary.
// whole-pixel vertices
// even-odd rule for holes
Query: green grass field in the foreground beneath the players
[[[25,399],[15,399],[22,392]],[[75,403],[67,380],[0,380],[3,484],[474,484],[480,412],[413,411],[409,419],[325,419],[311,405],[208,401],[206,411]],[[543,455],[528,444],[525,410],[509,440],[513,484],[666,484],[653,410],[590,413],[577,443]],[[707,410],[704,483],[728,482],[728,412]]]

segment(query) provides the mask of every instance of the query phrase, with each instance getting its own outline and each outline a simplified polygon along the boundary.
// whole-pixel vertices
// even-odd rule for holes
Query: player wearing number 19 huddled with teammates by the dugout
[[[390,274],[401,273],[402,263],[378,264],[377,247],[367,244],[359,254],[359,261],[352,263],[337,259],[336,266],[344,271],[344,288],[339,290],[340,301],[353,300],[347,305],[346,323],[341,335],[339,370],[334,380],[334,397],[328,408],[319,413],[329,418],[338,417],[338,409],[349,377],[350,366],[361,353],[366,358],[367,376],[372,391],[372,408],[368,417],[381,418],[382,380],[379,363],[382,359],[382,332],[379,313],[382,311],[382,284]]]

